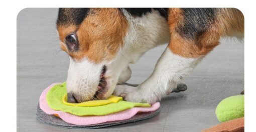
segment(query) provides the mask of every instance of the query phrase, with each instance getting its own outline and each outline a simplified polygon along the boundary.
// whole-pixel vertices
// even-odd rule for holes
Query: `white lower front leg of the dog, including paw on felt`
[[[137,87],[117,85],[114,94],[123,96],[127,101],[154,103],[176,88],[200,60],[201,57],[179,56],[167,47],[148,79]]]

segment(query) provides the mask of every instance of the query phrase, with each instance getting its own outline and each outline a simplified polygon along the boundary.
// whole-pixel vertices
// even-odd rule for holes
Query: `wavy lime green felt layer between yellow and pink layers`
[[[109,103],[100,106],[70,106],[62,102],[63,96],[67,94],[66,83],[53,86],[46,95],[48,105],[54,110],[61,110],[75,115],[106,115],[119,112],[136,106],[149,107],[148,103],[137,103],[120,100],[117,103]]]

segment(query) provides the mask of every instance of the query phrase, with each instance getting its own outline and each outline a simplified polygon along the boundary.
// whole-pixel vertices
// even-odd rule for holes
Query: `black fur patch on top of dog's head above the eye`
[[[58,24],[75,24],[79,25],[88,14],[89,8],[59,8]]]

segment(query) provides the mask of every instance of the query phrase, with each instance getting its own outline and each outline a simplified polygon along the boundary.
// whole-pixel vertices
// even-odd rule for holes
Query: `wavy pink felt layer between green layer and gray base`
[[[155,111],[160,107],[160,103],[156,102],[152,104],[151,107],[133,107],[130,109],[126,109],[120,112],[111,113],[107,115],[77,116],[77,115],[70,114],[68,112],[53,110],[49,107],[46,101],[46,94],[56,84],[59,84],[59,83],[51,84],[42,92],[40,96],[40,101],[39,101],[40,108],[47,114],[58,114],[60,118],[62,118],[64,121],[71,124],[89,125],[89,124],[97,124],[97,123],[103,123],[108,121],[124,120],[124,119],[129,119],[133,117],[139,111],[141,112]]]

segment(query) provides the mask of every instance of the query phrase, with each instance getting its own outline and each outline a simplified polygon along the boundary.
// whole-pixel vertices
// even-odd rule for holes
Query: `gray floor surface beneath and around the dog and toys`
[[[200,131],[218,123],[218,102],[244,87],[244,44],[222,39],[184,80],[188,90],[161,101],[161,112],[150,119],[100,129],[67,129],[36,119],[39,96],[53,82],[65,81],[68,56],[59,51],[56,8],[26,8],[17,17],[17,129],[18,131]],[[131,64],[130,83],[140,83],[154,69],[166,45],[148,51]]]

